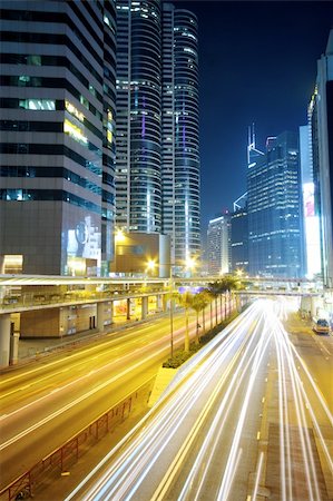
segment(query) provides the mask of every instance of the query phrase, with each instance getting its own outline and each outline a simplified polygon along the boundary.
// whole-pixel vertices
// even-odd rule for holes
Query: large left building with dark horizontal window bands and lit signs
[[[107,274],[115,1],[1,2],[1,272]]]

